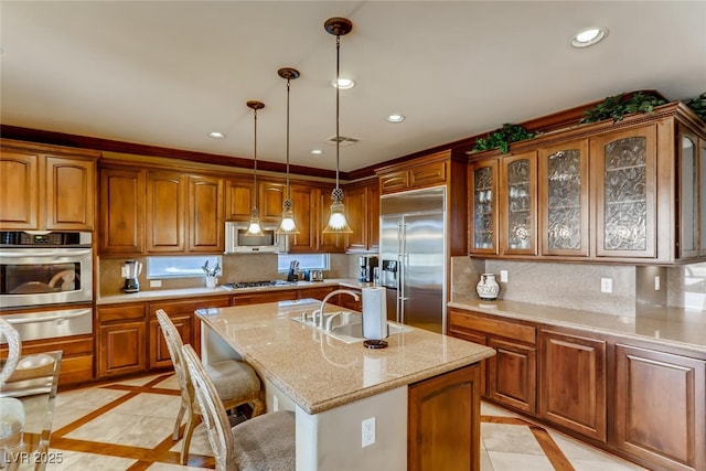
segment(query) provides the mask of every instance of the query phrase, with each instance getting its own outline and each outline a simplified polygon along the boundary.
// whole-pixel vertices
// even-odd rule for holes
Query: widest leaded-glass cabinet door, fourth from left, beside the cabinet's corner
[[[654,258],[656,125],[591,138],[596,255]]]

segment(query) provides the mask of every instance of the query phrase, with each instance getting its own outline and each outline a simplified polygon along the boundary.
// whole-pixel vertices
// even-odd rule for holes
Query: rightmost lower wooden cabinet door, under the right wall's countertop
[[[618,446],[660,469],[706,469],[706,362],[616,345]]]

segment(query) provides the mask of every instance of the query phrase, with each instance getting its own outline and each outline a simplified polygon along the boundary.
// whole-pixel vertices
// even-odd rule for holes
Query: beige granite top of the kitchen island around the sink
[[[308,414],[318,414],[492,356],[494,350],[411,329],[386,349],[346,344],[291,320],[319,301],[270,302],[200,311],[244,360]],[[327,306],[327,311],[340,308]]]

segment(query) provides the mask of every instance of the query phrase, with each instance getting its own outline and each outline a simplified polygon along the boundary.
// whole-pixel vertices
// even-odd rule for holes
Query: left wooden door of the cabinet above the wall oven
[[[38,229],[40,157],[2,150],[0,157],[0,227]]]

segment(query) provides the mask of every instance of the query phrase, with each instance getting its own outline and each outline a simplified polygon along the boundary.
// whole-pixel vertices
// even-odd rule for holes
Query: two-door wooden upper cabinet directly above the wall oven
[[[2,140],[0,228],[93,231],[99,152]]]

